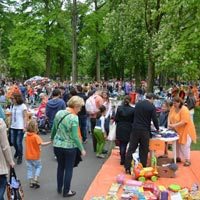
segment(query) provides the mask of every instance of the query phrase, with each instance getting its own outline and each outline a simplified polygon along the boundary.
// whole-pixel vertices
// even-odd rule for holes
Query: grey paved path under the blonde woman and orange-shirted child
[[[49,140],[50,135],[42,136],[44,141]],[[82,200],[87,192],[91,182],[95,178],[105,159],[96,158],[92,148],[91,136],[88,136],[88,143],[84,144],[87,155],[78,167],[74,168],[71,189],[76,191],[73,197],[63,198],[57,194],[56,187],[56,171],[57,161],[54,158],[52,145],[42,147],[42,171],[40,176],[40,188],[29,188],[29,183],[26,179],[26,164],[23,160],[21,165],[16,165],[15,170],[18,178],[22,183],[25,200]]]

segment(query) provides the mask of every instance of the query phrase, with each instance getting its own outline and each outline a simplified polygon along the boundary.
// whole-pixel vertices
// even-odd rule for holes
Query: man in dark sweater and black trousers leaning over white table
[[[130,173],[132,154],[139,145],[139,158],[143,167],[146,167],[149,151],[149,139],[151,135],[151,120],[157,130],[159,130],[156,108],[153,105],[155,95],[148,93],[146,99],[139,101],[135,106],[133,130],[125,160],[125,170]]]

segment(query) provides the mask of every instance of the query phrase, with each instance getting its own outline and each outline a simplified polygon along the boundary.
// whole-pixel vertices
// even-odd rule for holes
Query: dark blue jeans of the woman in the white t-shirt
[[[22,157],[23,155],[23,137],[24,137],[24,131],[23,129],[10,129],[11,134],[11,143],[15,147],[15,155]]]

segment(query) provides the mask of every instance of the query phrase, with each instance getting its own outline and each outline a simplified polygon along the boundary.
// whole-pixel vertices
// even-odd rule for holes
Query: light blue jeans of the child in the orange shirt
[[[27,178],[39,177],[42,169],[41,160],[26,160]]]

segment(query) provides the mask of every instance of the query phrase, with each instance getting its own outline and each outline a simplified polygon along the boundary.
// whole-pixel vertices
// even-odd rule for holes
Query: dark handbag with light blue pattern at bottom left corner
[[[15,169],[10,168],[9,182],[7,183],[8,200],[24,200],[24,192],[19,179],[17,179]]]

